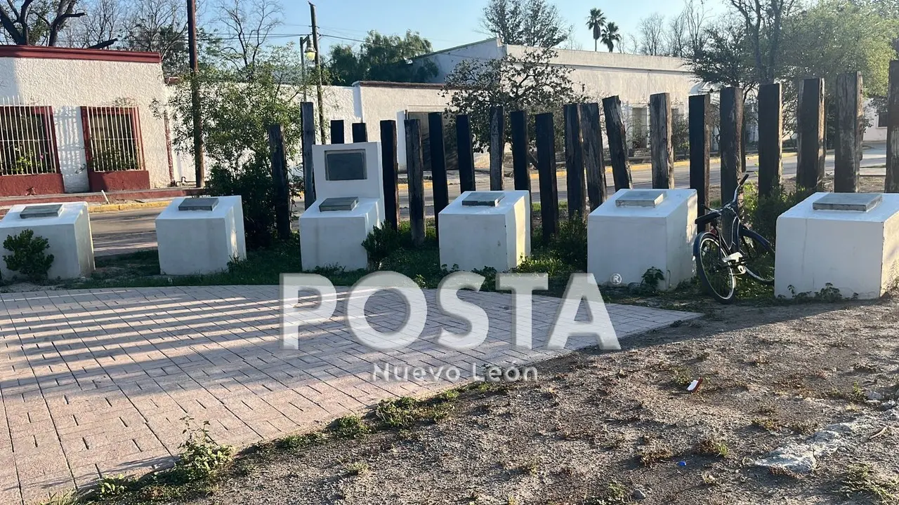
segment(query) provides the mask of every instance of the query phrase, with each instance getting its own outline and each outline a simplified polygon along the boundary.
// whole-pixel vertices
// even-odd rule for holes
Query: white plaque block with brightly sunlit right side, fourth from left
[[[438,218],[441,264],[508,271],[530,256],[528,191],[465,191]]]

